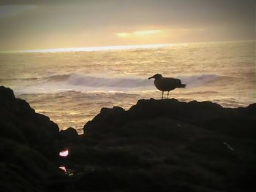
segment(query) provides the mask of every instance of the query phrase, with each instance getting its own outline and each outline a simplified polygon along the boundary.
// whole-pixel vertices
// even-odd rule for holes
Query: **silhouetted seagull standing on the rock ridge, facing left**
[[[154,74],[152,77],[148,77],[148,80],[154,79],[154,85],[157,89],[162,91],[162,99],[164,96],[164,92],[167,92],[167,99],[169,96],[169,91],[172,91],[176,88],[185,88],[186,85],[181,83],[181,80],[171,78],[171,77],[162,77],[162,74]]]

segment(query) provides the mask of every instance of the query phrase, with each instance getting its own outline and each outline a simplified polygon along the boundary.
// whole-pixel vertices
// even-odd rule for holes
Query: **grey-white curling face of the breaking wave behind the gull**
[[[216,74],[202,74],[192,76],[178,76],[176,78],[187,84],[187,87],[197,87],[205,85],[209,82],[227,79],[225,76],[218,76]],[[85,86],[92,88],[144,88],[152,87],[154,83],[148,80],[147,77],[114,77],[113,75],[105,74],[59,74],[48,77],[48,81],[65,82],[74,86]]]

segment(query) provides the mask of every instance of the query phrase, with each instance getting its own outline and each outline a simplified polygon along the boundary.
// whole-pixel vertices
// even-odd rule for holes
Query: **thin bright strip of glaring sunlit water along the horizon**
[[[62,47],[49,49],[31,49],[31,50],[7,50],[0,53],[64,53],[64,52],[92,52],[106,50],[135,50],[147,48],[169,47],[174,45],[200,44],[200,43],[215,43],[215,42],[255,42],[255,39],[248,40],[230,40],[230,41],[214,41],[214,42],[181,42],[181,43],[165,43],[165,44],[143,44],[143,45],[109,45],[109,46],[94,46],[94,47]]]

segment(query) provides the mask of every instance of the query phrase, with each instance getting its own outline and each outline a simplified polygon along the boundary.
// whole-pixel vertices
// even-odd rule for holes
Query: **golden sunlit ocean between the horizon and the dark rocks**
[[[0,53],[0,84],[50,117],[82,133],[102,107],[128,110],[138,99],[161,99],[153,74],[176,77],[180,101],[223,107],[255,102],[255,42],[67,48]]]

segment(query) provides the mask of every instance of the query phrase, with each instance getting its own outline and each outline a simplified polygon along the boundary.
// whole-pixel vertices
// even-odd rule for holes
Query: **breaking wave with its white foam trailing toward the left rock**
[[[196,88],[211,82],[222,80],[216,74],[181,76],[187,88]],[[56,93],[62,91],[110,92],[110,91],[154,91],[154,80],[147,77],[115,76],[113,74],[57,74],[43,78],[42,82],[16,89],[18,93]]]

